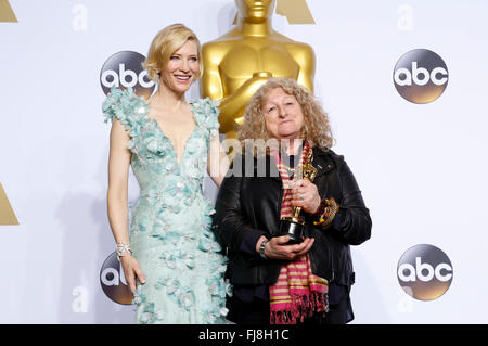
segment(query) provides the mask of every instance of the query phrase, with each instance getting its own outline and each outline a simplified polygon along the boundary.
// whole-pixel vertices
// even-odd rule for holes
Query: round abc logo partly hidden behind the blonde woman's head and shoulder
[[[108,57],[100,72],[100,84],[107,94],[112,87],[133,88],[138,95],[149,98],[154,90],[154,81],[142,67],[145,56],[130,51],[118,52]]]

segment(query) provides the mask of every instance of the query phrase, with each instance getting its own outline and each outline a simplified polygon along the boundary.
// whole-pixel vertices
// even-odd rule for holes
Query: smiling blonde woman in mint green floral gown
[[[202,74],[198,39],[181,24],[168,26],[144,65],[158,86],[149,100],[113,88],[103,104],[105,121],[112,120],[108,220],[136,322],[224,323],[226,261],[210,230],[214,207],[203,180],[207,170],[220,185],[229,163],[218,104],[184,99]],[[130,226],[129,166],[140,188]]]

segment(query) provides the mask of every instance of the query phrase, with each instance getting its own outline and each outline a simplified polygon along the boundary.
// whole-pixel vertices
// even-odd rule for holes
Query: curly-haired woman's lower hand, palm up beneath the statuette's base
[[[271,238],[265,246],[265,256],[271,259],[294,260],[307,254],[313,245],[313,238],[305,238],[300,244],[287,245],[290,235]]]

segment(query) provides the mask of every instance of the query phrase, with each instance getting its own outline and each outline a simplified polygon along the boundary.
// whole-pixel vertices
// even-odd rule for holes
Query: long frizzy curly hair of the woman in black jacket
[[[262,154],[262,148],[259,145],[272,139],[266,130],[261,107],[270,92],[277,88],[283,89],[298,101],[304,114],[303,139],[307,140],[311,146],[328,151],[334,144],[329,115],[312,93],[292,78],[270,78],[251,98],[244,113],[244,124],[237,131],[242,150],[245,150],[246,140],[258,140],[256,141],[258,143],[257,151]]]

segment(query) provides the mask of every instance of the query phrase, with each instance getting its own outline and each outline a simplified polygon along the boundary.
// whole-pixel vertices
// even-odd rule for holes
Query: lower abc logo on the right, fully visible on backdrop
[[[397,267],[398,282],[410,296],[419,300],[440,297],[452,282],[452,265],[446,254],[433,245],[410,247]]]

